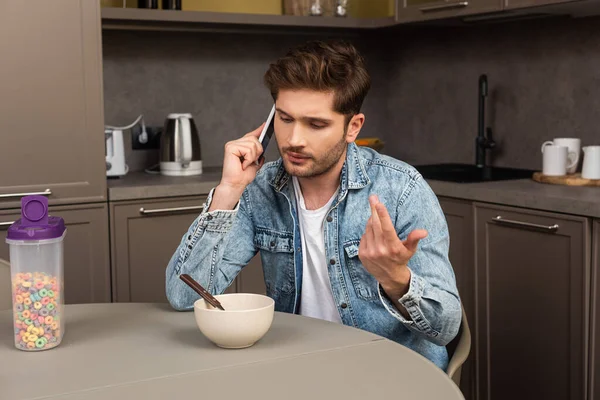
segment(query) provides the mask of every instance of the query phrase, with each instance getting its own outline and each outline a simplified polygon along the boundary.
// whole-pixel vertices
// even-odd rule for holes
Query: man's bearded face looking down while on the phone
[[[275,137],[290,175],[319,176],[345,158],[346,145],[358,132],[346,134],[345,117],[333,111],[333,99],[333,93],[312,90],[279,92]]]

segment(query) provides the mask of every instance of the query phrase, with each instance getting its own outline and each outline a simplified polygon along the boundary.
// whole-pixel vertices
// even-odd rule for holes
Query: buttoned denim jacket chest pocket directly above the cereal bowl
[[[295,288],[294,236],[257,228],[254,245],[260,251],[267,294],[292,293]]]

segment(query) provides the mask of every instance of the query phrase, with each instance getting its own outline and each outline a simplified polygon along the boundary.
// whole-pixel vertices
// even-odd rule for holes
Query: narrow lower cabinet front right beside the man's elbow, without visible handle
[[[473,205],[469,201],[439,198],[450,233],[449,258],[456,284],[475,337],[475,240]],[[466,400],[475,399],[475,346],[463,364],[460,388]]]

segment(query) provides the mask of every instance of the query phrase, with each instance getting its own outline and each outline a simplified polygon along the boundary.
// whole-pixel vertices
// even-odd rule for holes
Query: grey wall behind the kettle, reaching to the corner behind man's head
[[[103,32],[104,106],[109,125],[125,125],[143,113],[162,126],[171,112],[190,112],[200,131],[205,166],[220,166],[223,145],[259,126],[271,96],[262,77],[270,62],[311,36],[249,33]],[[364,135],[384,131],[387,75],[378,49],[350,37],[366,51],[373,89],[365,103]],[[127,139],[129,140],[129,136]],[[157,151],[131,151],[131,170],[158,161]],[[270,146],[267,159],[278,156]]]

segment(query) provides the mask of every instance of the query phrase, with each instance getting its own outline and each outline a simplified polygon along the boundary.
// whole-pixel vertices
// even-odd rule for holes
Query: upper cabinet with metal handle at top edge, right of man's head
[[[504,0],[398,0],[399,23],[446,19],[501,11]]]

